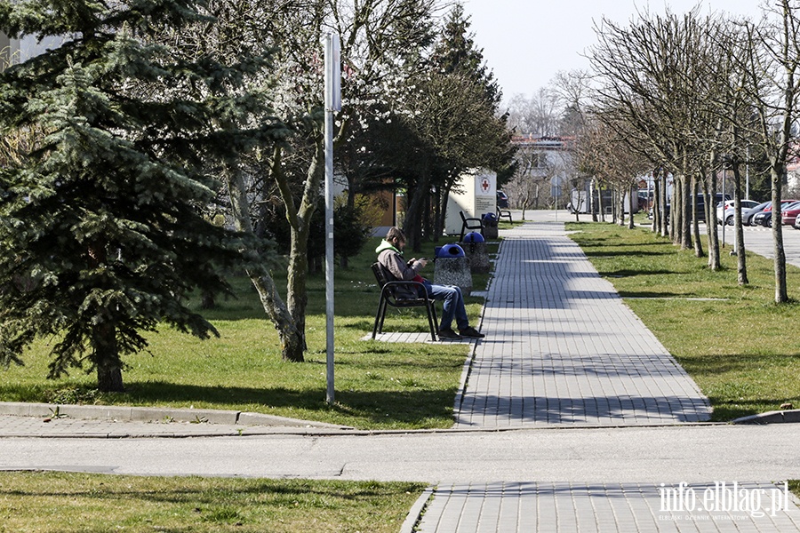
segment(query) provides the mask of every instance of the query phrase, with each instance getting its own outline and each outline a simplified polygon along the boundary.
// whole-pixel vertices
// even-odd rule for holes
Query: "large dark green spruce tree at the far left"
[[[101,391],[121,391],[124,355],[160,322],[217,334],[186,297],[227,290],[220,267],[242,243],[204,217],[218,187],[208,169],[273,127],[234,127],[258,107],[242,86],[267,56],[187,61],[154,44],[212,23],[198,4],[0,2],[7,35],[63,36],[0,75],[2,134],[40,133],[0,168],[0,362],[55,338],[51,378],[96,370]]]

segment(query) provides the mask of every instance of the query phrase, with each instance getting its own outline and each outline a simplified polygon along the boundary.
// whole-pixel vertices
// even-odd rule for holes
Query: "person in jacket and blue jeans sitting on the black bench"
[[[405,234],[399,227],[391,227],[380,246],[375,250],[378,262],[396,280],[422,282],[428,289],[428,296],[444,302],[442,323],[439,324],[439,338],[484,338],[484,334],[469,325],[467,309],[464,306],[464,297],[461,290],[452,285],[436,285],[420,276],[420,270],[428,265],[428,259],[403,259],[405,248]],[[416,295],[412,295],[415,298]],[[452,330],[452,321],[455,319],[459,333]]]

